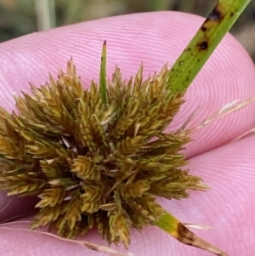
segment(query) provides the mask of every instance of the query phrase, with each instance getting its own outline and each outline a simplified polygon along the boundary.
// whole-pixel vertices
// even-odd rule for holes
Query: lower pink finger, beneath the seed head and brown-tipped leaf
[[[195,233],[224,249],[231,256],[252,256],[255,253],[254,145],[255,136],[252,136],[196,156],[190,162],[190,173],[202,174],[205,182],[212,186],[212,190],[203,193],[193,191],[190,193],[190,199],[182,201],[160,200],[164,208],[183,222],[211,226],[211,230],[195,230]],[[27,228],[27,225],[9,227]],[[95,230],[89,231],[82,239],[105,244]],[[132,230],[131,239],[129,251],[134,255],[211,255],[175,241],[156,227],[145,228],[142,233]],[[8,245],[2,247],[3,251],[0,247],[0,253],[6,256],[14,255],[18,250],[22,250],[26,255],[38,256],[75,256],[83,253],[100,255],[52,237],[19,230],[1,230],[0,241]]]

